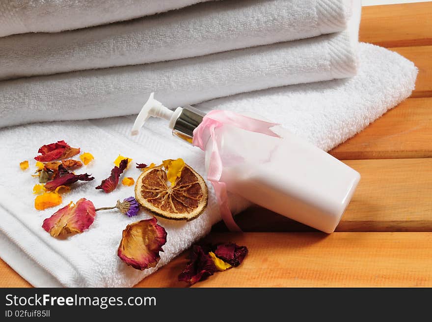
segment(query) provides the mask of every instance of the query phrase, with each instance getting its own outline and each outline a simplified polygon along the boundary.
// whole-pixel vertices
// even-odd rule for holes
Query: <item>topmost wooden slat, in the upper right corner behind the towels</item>
[[[432,2],[362,8],[360,40],[383,47],[432,45]]]

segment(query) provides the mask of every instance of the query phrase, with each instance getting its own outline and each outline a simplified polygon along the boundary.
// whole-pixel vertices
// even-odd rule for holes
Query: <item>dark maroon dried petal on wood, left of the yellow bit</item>
[[[185,281],[192,285],[217,271],[216,265],[208,252],[204,252],[203,247],[199,245],[192,247],[189,259],[190,262],[178,276],[179,281]]]

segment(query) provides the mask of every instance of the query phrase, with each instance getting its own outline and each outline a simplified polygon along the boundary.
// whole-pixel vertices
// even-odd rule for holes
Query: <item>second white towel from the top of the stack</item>
[[[107,26],[3,37],[0,80],[309,38],[346,29],[351,10],[351,0],[211,1]]]

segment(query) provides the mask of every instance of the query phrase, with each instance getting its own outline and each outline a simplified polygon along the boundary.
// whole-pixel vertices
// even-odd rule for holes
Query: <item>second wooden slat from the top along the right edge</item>
[[[432,97],[432,46],[397,47],[390,50],[413,61],[419,69],[411,97]]]

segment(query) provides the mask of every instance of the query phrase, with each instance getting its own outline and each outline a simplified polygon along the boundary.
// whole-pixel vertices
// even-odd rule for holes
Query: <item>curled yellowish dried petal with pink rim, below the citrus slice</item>
[[[126,226],[117,250],[123,262],[140,270],[156,266],[166,243],[166,231],[157,222],[153,217]]]

